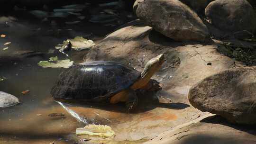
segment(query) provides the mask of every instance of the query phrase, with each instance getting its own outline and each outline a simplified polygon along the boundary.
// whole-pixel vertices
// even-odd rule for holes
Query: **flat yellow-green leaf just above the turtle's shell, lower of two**
[[[49,61],[40,61],[37,63],[39,66],[43,68],[69,68],[73,65],[73,61],[69,59],[58,60],[58,57],[50,57]]]

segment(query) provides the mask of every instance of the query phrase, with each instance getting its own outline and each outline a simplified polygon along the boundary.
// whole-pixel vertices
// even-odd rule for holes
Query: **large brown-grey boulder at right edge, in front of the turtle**
[[[232,123],[256,124],[256,67],[232,68],[205,78],[188,95],[193,107]]]

